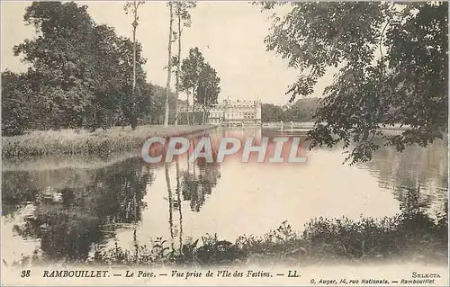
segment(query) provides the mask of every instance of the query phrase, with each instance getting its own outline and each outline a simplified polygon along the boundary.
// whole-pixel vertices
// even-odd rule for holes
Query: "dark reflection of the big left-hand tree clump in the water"
[[[40,238],[45,259],[84,261],[94,244],[111,238],[122,224],[141,220],[142,202],[153,175],[139,160],[94,172],[84,187],[40,191],[35,210],[14,230],[24,238]]]

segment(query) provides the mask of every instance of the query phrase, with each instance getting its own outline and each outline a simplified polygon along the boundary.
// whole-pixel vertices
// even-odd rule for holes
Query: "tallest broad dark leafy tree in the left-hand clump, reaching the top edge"
[[[35,128],[79,125],[85,105],[94,96],[89,88],[94,60],[85,52],[92,50],[94,22],[86,10],[86,6],[57,2],[33,2],[25,10],[23,20],[39,36],[14,46],[14,55],[22,55],[31,65],[28,80],[39,79],[33,81],[33,93],[28,95],[31,102],[40,98],[41,110],[33,109]]]

